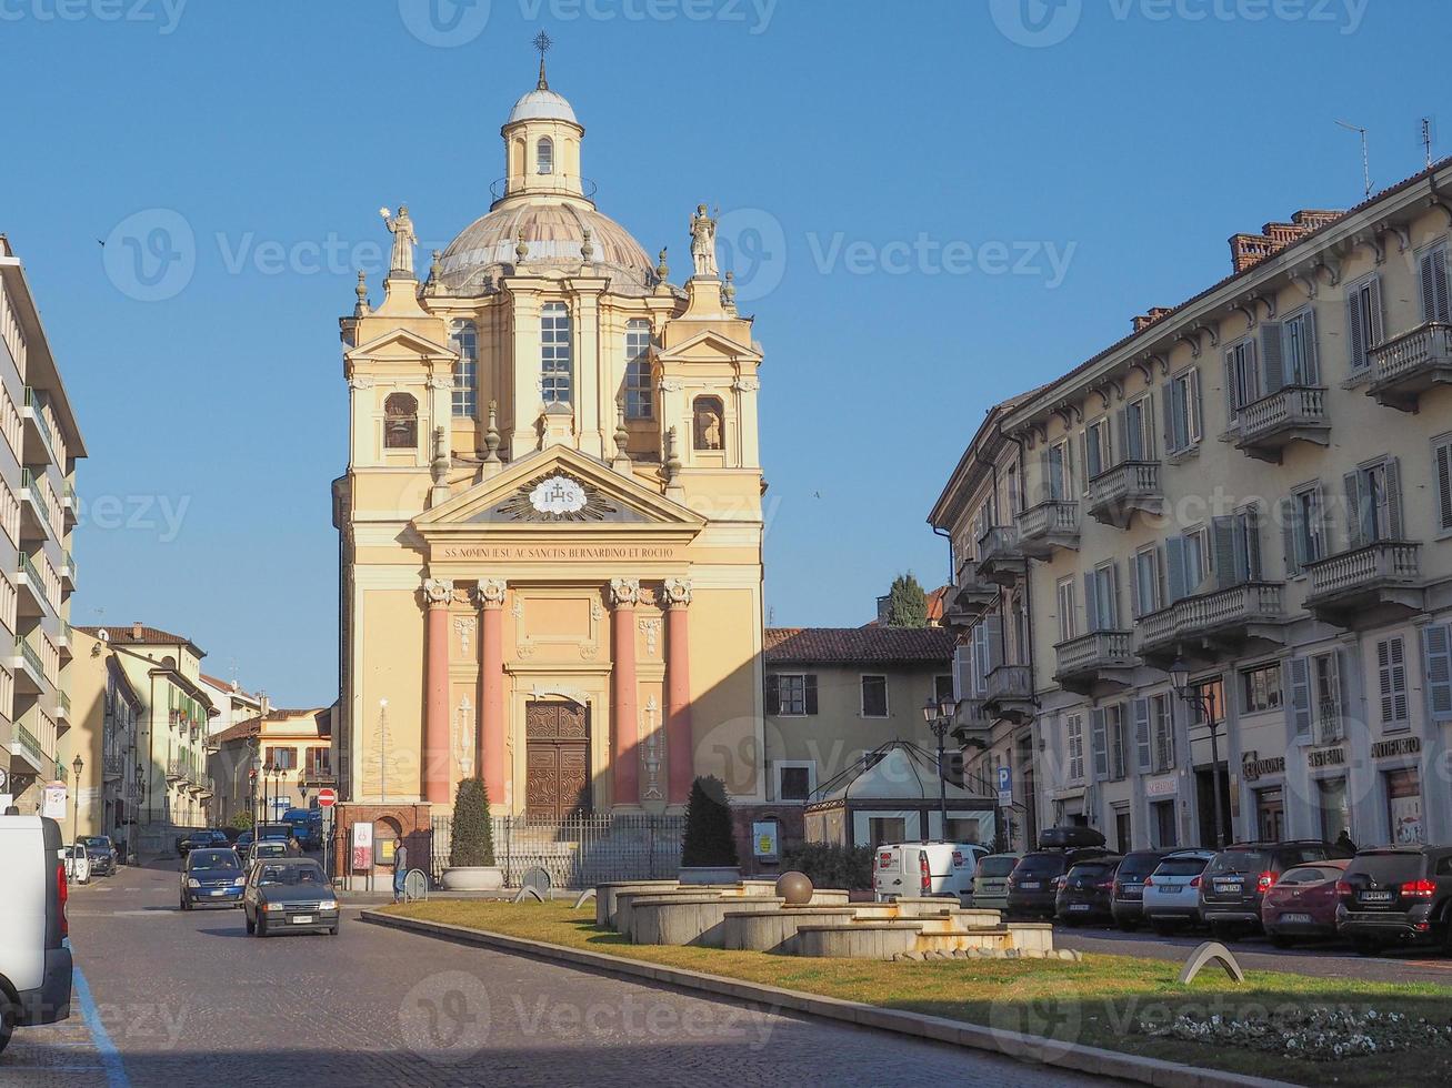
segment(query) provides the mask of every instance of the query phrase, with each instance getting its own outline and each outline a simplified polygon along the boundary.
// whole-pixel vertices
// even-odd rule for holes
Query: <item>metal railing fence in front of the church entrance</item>
[[[539,866],[556,888],[590,888],[605,881],[672,878],[681,867],[680,815],[587,815],[542,824],[526,817],[494,817],[494,859],[514,886]],[[433,875],[449,865],[452,817],[433,818]]]

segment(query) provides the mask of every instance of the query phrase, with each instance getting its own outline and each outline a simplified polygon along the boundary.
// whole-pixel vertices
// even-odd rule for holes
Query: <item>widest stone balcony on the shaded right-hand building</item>
[[[1176,601],[1135,627],[1135,653],[1156,667],[1176,657],[1220,662],[1285,644],[1285,585],[1243,582]]]

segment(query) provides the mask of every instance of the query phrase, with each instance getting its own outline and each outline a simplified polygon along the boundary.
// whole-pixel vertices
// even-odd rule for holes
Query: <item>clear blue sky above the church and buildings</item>
[[[767,350],[771,617],[841,625],[899,570],[944,580],[925,516],[990,403],[1224,276],[1230,234],[1361,199],[1336,119],[1378,187],[1420,168],[1446,84],[1417,44],[1452,9],[0,0],[0,231],[91,454],[77,622],[333,698],[335,319],[380,205],[425,245],[486,210],[540,29],[604,212],[680,273],[720,206]],[[193,241],[151,283],[157,223]]]

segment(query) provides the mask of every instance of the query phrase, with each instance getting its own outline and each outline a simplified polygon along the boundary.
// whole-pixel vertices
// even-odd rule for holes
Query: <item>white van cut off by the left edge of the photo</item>
[[[16,1027],[71,1014],[61,827],[0,817],[0,1050]]]

